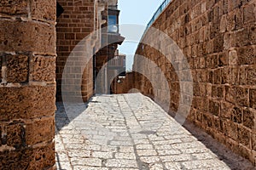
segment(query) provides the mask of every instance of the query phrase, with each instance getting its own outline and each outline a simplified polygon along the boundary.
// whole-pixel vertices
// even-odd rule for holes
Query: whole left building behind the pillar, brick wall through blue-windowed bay
[[[63,13],[56,25],[57,101],[87,101],[96,89],[98,94],[107,93],[107,67],[104,76],[96,77],[124,41],[119,34],[117,1],[58,3]]]

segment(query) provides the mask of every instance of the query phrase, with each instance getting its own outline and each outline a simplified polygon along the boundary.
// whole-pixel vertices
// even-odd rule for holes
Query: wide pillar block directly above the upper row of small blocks
[[[1,20],[0,31],[4,32],[0,36],[1,51],[55,55],[55,26],[31,20]]]

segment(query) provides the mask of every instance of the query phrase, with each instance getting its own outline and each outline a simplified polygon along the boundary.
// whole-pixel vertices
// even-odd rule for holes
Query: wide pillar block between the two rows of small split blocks
[[[54,116],[55,87],[0,88],[0,121]]]

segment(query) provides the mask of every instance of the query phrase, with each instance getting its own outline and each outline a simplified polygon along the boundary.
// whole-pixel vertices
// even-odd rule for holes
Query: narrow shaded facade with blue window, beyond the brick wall
[[[110,3],[108,12],[103,17],[108,22],[102,25],[102,48],[95,55],[95,93],[110,94],[110,84],[114,75],[118,73],[120,67],[113,68],[113,63],[119,55],[118,46],[122,44],[125,37],[119,34],[119,9],[117,1]],[[110,64],[110,65],[109,65]],[[123,63],[122,63],[123,64]],[[124,65],[121,66],[124,69]]]

